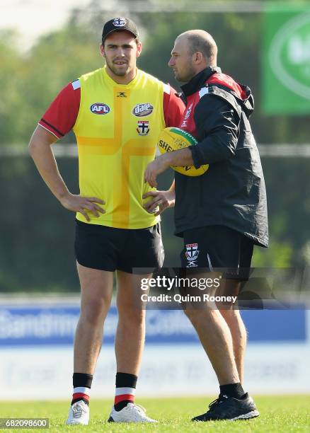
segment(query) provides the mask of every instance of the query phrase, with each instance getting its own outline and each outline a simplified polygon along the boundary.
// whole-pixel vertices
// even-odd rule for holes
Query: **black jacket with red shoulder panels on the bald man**
[[[176,173],[176,235],[220,224],[268,246],[265,181],[248,121],[251,90],[207,68],[182,86],[188,110],[180,127],[193,134],[195,167],[209,164],[197,178]]]

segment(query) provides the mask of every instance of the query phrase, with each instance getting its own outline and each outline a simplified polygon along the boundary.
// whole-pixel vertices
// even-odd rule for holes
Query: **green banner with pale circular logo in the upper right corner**
[[[266,4],[261,57],[265,114],[309,113],[309,5]]]

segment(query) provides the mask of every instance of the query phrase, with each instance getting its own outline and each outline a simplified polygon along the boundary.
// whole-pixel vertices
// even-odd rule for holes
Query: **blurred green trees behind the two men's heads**
[[[126,2],[123,2],[124,4]],[[93,1],[93,8],[100,2]],[[19,50],[17,34],[1,35],[0,145],[28,142],[51,100],[69,81],[101,67],[98,52],[107,14],[72,11],[64,27],[40,37],[28,53]],[[214,36],[223,71],[248,84],[256,96],[253,130],[258,142],[307,142],[306,117],[265,117],[260,112],[260,13],[139,13],[144,50],[139,67],[178,87],[167,67],[176,36],[202,28]],[[151,30],[151,31],[150,31]],[[18,113],[18,115],[16,115]],[[20,114],[22,113],[22,114]]]

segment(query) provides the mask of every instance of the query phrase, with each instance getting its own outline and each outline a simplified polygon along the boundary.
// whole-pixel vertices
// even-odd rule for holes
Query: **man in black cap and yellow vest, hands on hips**
[[[106,66],[69,83],[35,129],[30,154],[59,202],[76,212],[76,262],[81,314],[74,340],[73,398],[68,424],[87,425],[89,396],[103,323],[117,277],[115,404],[110,422],[155,422],[134,404],[144,347],[145,311],[137,308],[142,277],[163,263],[159,209],[150,214],[143,182],[162,129],[180,122],[176,91],[136,67],[142,51],[136,25],[114,18],[103,27]],[[80,195],[59,174],[51,144],[71,129],[79,151]],[[160,207],[173,203],[163,192]],[[143,275],[134,268],[148,268]],[[142,272],[140,272],[142,273]],[[140,300],[141,302],[141,300]]]

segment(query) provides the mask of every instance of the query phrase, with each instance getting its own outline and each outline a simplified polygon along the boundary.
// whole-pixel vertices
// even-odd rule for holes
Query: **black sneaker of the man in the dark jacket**
[[[259,415],[260,412],[256,409],[253,398],[248,396],[248,393],[240,400],[219,394],[219,398],[209,404],[209,410],[194,417],[192,421],[248,420]]]

